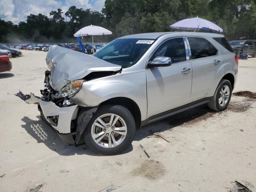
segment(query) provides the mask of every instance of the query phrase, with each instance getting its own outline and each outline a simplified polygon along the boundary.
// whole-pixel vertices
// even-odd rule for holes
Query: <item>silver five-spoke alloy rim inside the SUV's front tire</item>
[[[99,116],[91,128],[92,139],[104,148],[120,145],[127,134],[127,126],[123,118],[117,114],[103,114]]]

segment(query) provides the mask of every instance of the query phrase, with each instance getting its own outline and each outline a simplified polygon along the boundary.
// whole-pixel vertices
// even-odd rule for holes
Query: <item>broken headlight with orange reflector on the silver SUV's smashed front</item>
[[[81,88],[85,80],[75,80],[66,84],[58,93],[54,95],[54,98],[65,98],[68,96],[72,98]]]

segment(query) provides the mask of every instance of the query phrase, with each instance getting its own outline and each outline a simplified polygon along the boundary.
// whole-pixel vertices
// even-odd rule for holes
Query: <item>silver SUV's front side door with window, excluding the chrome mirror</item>
[[[171,38],[163,42],[151,56],[150,61],[157,56],[170,57],[172,65],[146,70],[147,118],[188,104],[192,67],[186,48],[185,38]]]

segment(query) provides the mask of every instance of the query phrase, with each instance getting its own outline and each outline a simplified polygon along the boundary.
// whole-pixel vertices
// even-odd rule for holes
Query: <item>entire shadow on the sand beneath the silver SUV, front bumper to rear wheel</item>
[[[207,118],[214,116],[214,114],[216,114],[216,112],[210,110],[207,106],[200,106],[141,128],[136,132],[134,140],[140,141],[156,132],[164,132],[185,123],[191,125],[206,120]],[[44,143],[50,150],[63,156],[71,156],[74,154],[101,156],[92,152],[86,144],[80,146],[66,144],[58,137],[56,132],[40,118],[40,116],[37,116],[37,118],[39,120],[31,120],[28,117],[22,118],[22,121],[26,123],[22,125],[22,128],[36,139],[38,143]],[[133,147],[130,145],[122,154],[132,150]]]

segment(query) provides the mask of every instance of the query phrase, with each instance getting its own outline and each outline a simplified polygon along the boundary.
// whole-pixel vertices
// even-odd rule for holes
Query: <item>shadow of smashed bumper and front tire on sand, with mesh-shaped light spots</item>
[[[21,125],[22,128],[28,132],[38,143],[44,143],[50,150],[63,156],[71,156],[74,154],[78,155],[90,155],[90,156],[101,156],[100,154],[94,153],[90,150],[86,144],[80,146],[68,145],[63,142],[58,134],[50,128],[41,118],[37,116],[39,120],[32,120],[28,117],[22,118],[22,121],[26,124]],[[122,154],[132,151],[132,145],[128,147]]]

